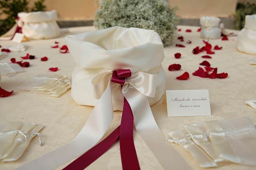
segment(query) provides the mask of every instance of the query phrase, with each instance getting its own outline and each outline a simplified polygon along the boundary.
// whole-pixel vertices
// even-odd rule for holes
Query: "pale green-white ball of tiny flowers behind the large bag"
[[[95,27],[137,27],[156,31],[164,43],[175,37],[178,17],[168,0],[101,0],[95,13]]]

